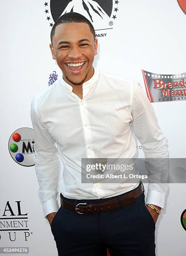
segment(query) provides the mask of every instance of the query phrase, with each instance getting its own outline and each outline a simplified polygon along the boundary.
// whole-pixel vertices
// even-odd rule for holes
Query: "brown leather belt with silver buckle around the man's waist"
[[[120,200],[114,198],[112,200],[108,200],[106,202],[102,202],[99,204],[87,204],[87,203],[79,203],[74,207],[72,202],[68,202],[64,200],[60,196],[61,205],[69,210],[73,210],[79,214],[87,214],[87,213],[94,213],[94,212],[104,212],[108,210],[113,210],[116,208],[120,208],[126,205],[131,205],[135,202],[135,199],[139,197],[143,193],[143,185],[140,182],[139,186],[134,189],[132,192],[129,192],[126,195],[118,196]]]

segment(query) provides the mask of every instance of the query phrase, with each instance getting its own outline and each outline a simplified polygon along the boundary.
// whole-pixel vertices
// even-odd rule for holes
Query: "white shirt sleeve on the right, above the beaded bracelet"
[[[132,127],[136,137],[143,146],[145,159],[147,160],[146,169],[148,173],[154,174],[154,170],[160,172],[160,176],[167,182],[168,178],[168,144],[167,139],[159,128],[153,107],[148,97],[137,81],[132,81]],[[153,160],[154,159],[154,160]],[[158,161],[160,160],[161,161]],[[157,161],[156,161],[157,160]],[[151,164],[151,162],[153,162]],[[157,162],[157,169],[154,168]],[[163,175],[162,175],[163,174]],[[154,175],[151,175],[154,177]],[[155,176],[156,177],[156,176]],[[158,177],[158,174],[157,174]],[[165,196],[168,190],[166,182],[148,183],[146,204],[164,207]]]

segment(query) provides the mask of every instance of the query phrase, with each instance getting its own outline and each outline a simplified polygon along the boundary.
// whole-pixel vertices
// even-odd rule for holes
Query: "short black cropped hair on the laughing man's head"
[[[80,13],[74,13],[74,12],[71,12],[71,13],[65,13],[64,15],[60,16],[54,23],[53,27],[52,27],[52,30],[51,30],[51,33],[50,33],[50,40],[51,40],[51,43],[53,41],[53,36],[55,34],[55,28],[59,25],[59,24],[63,24],[63,23],[71,23],[71,22],[83,22],[83,23],[87,23],[89,28],[90,28],[90,31],[91,33],[93,34],[94,36],[94,40],[96,38],[96,34],[95,34],[95,30],[94,30],[94,27],[92,25],[92,23],[87,19],[85,18],[85,16],[81,15]]]

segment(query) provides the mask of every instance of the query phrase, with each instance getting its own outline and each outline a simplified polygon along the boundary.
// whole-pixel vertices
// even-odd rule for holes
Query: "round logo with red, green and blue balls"
[[[24,127],[14,131],[8,142],[8,149],[14,161],[23,166],[34,165],[34,133]]]

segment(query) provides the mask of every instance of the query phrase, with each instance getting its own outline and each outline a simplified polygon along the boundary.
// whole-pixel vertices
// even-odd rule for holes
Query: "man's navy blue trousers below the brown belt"
[[[117,197],[74,200],[61,196],[75,205]],[[145,206],[144,193],[131,205],[105,212],[78,214],[61,206],[51,231],[58,256],[106,256],[107,248],[111,256],[155,256],[155,223]]]

